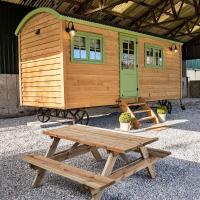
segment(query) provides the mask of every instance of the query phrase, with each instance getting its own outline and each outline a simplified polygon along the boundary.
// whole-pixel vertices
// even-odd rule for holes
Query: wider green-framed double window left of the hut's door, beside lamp
[[[79,32],[72,38],[71,52],[72,62],[103,63],[103,38]]]

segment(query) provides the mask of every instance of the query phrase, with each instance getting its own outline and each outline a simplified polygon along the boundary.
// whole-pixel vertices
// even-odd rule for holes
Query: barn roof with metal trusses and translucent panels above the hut
[[[30,7],[50,7],[187,42],[200,35],[200,1],[197,0],[5,0]]]

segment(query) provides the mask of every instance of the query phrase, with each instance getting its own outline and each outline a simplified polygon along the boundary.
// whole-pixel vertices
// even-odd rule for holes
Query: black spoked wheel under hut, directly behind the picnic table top
[[[76,124],[88,125],[89,115],[87,111],[83,109],[76,109],[75,111],[70,111],[70,113],[73,115]]]

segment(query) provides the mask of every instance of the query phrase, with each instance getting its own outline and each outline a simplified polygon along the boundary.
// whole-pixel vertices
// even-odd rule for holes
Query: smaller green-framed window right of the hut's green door
[[[145,45],[145,66],[163,66],[163,49],[161,47]]]

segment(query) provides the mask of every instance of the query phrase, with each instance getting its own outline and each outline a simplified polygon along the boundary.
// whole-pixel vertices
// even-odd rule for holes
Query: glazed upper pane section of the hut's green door
[[[134,41],[124,40],[122,55],[122,69],[134,68]]]

